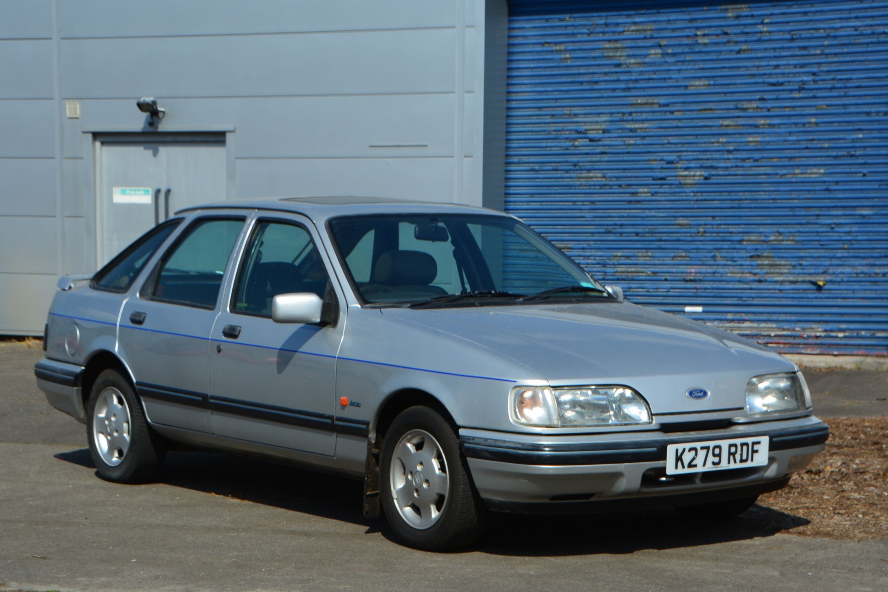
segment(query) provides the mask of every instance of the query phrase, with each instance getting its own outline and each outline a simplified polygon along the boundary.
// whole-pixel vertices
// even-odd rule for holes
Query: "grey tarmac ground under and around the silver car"
[[[37,391],[41,355],[0,343],[0,590],[888,589],[888,540],[763,532],[761,519],[503,516],[474,548],[433,554],[361,517],[361,485],[344,478],[171,453],[159,483],[107,483],[85,427]],[[805,374],[822,416],[888,414],[884,372]]]

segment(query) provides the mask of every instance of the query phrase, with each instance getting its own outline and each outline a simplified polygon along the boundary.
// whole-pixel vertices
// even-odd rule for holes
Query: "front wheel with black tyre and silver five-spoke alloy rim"
[[[397,538],[415,549],[470,544],[482,528],[483,502],[475,493],[459,438],[429,407],[409,407],[385,434],[380,497]]]

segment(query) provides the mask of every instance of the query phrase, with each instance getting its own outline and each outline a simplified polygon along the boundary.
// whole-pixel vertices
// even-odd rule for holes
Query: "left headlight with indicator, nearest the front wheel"
[[[509,408],[513,422],[546,428],[651,422],[647,402],[628,386],[519,386],[511,391]]]

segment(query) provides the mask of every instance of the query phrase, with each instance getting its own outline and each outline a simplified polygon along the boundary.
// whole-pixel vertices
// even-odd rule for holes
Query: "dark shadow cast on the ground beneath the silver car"
[[[56,458],[95,470],[87,448]],[[396,541],[385,518],[361,515],[361,481],[276,462],[220,453],[170,452],[158,481],[193,491],[311,514],[367,527]],[[491,513],[486,533],[464,552],[500,556],[625,554],[743,541],[790,531],[810,522],[755,505],[740,517],[695,520],[671,509],[524,516]]]

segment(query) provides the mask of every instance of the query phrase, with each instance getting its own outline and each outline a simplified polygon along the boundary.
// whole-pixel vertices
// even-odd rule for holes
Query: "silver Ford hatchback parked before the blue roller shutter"
[[[335,471],[419,549],[489,511],[731,517],[829,436],[788,359],[630,304],[488,209],[186,209],[59,288],[37,383],[102,478],[156,478],[171,443]]]

